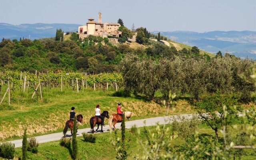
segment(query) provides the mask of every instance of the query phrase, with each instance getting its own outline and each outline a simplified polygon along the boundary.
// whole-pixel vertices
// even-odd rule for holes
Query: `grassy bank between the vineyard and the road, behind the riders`
[[[17,90],[13,93],[15,99],[11,102],[11,106],[5,105],[0,108],[0,141],[20,138],[24,128],[28,128],[28,136],[62,132],[72,106],[75,106],[77,114],[84,116],[84,123],[80,128],[89,127],[89,120],[95,114],[96,104],[100,104],[101,110],[108,110],[109,114],[113,114],[116,112],[117,102],[122,102],[125,111],[134,112],[132,120],[165,114],[165,109],[159,104],[144,102],[135,97],[112,96],[114,93],[114,90],[93,92],[88,89],[77,93],[71,88],[64,88],[64,92],[60,92],[59,88],[51,90],[44,88],[44,100],[38,102],[30,99],[32,90],[29,96]],[[182,107],[173,114],[192,112],[188,102],[181,100],[180,104]]]

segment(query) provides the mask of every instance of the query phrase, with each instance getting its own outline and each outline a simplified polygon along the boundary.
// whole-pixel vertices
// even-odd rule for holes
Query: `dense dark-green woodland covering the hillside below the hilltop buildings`
[[[126,28],[122,32],[125,40],[133,35]],[[108,38],[89,36],[90,39],[78,40],[78,34],[73,34],[71,41],[64,42],[53,38],[14,42],[4,39],[0,42],[0,69],[30,72],[58,69],[91,73],[113,72],[118,70],[118,64],[126,51],[137,51],[125,44],[113,46]]]

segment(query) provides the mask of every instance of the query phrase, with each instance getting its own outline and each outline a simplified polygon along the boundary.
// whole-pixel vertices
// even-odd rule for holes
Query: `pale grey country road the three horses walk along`
[[[195,114],[194,114],[195,115]],[[180,116],[185,116],[186,118],[192,118],[193,114],[181,114]],[[156,125],[156,122],[159,124],[164,124],[164,123],[171,123],[172,118],[177,117],[177,115],[174,116],[162,116],[162,117],[155,117],[155,118],[146,118],[146,119],[141,119],[141,120],[130,120],[125,122],[126,128],[131,128],[134,124],[136,124],[137,127],[143,127],[144,126],[144,121],[146,120],[146,126],[154,126]],[[132,119],[132,117],[131,117]],[[106,119],[108,121],[108,119]],[[116,124],[116,128],[120,128],[121,123]],[[64,122],[63,122],[63,128],[64,128]],[[101,128],[101,127],[100,127]],[[99,128],[99,129],[100,129]],[[96,129],[96,127],[94,128]],[[103,127],[104,132],[109,132],[109,125],[106,125]],[[77,136],[82,136],[82,132],[86,133],[91,133],[90,128],[83,128],[83,129],[78,129]],[[97,133],[100,133],[99,130]],[[36,140],[38,143],[44,143],[44,142],[50,142],[50,141],[56,141],[60,140],[63,137],[63,133],[53,133],[53,134],[46,134],[43,136],[36,136]],[[66,137],[71,137],[70,129],[68,130]],[[20,140],[12,140],[9,141],[15,144],[15,147],[21,147],[22,146],[22,139]]]

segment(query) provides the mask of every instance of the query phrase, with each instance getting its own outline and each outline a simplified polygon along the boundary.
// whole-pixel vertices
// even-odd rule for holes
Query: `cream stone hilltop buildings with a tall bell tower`
[[[94,21],[94,18],[89,18],[85,26],[78,27],[79,38],[85,38],[89,35],[101,36],[101,37],[121,37],[122,32],[118,31],[121,25],[118,23],[102,23],[102,13],[98,14],[98,22]]]

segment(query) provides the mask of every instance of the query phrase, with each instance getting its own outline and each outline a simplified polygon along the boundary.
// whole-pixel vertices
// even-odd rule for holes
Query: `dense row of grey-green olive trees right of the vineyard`
[[[164,99],[172,92],[189,94],[199,100],[204,94],[219,91],[221,94],[236,93],[240,102],[252,100],[251,92],[255,86],[250,78],[250,68],[254,66],[253,61],[232,56],[209,59],[201,56],[196,47],[190,54],[172,48],[159,49],[147,49],[148,54],[163,57],[156,60],[126,55],[121,63],[126,92],[142,93],[149,100],[154,99],[156,91],[160,91]]]

